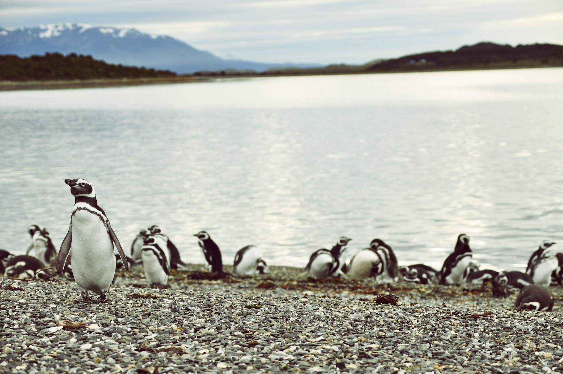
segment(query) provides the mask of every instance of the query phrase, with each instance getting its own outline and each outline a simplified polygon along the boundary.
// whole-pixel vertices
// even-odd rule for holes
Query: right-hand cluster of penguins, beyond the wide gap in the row
[[[425,264],[399,266],[395,252],[381,239],[373,239],[368,248],[356,253],[346,263],[343,253],[351,240],[340,237],[330,250],[315,251],[305,269],[315,278],[338,278],[346,274],[351,279],[373,278],[376,283],[459,285],[490,282],[493,292],[499,294],[505,287],[519,288],[516,307],[523,310],[551,310],[553,296],[548,287],[563,283],[563,253],[552,255],[549,248],[555,242],[548,240],[540,243],[532,253],[525,273],[479,270],[479,265],[472,261],[470,238],[466,234],[458,236],[453,253],[446,257],[440,270]]]

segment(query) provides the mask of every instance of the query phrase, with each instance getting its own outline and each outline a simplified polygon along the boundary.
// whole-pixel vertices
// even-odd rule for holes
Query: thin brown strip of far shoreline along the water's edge
[[[563,66],[503,66],[503,67],[484,67],[459,68],[459,69],[425,69],[425,70],[391,70],[391,71],[351,71],[351,72],[302,72],[302,73],[256,73],[256,74],[208,74],[208,75],[189,75],[174,78],[117,78],[117,79],[86,79],[73,81],[0,81],[0,92],[2,91],[28,91],[28,90],[67,90],[74,88],[105,88],[105,87],[127,87],[127,86],[146,86],[150,84],[174,84],[174,83],[196,83],[217,81],[221,79],[245,79],[245,78],[271,78],[271,77],[303,77],[318,75],[358,75],[358,74],[397,74],[397,73],[434,73],[434,72],[463,72],[473,70],[513,70],[513,69],[540,69],[540,68],[561,68]]]

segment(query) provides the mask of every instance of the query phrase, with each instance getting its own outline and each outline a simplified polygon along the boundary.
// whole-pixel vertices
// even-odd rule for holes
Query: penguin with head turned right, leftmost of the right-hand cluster
[[[342,253],[346,251],[348,242],[352,239],[347,237],[340,237],[330,251],[326,248],[321,248],[311,254],[309,263],[305,266],[305,270],[309,271],[312,277],[315,278],[339,278],[343,274],[344,262],[341,257]]]

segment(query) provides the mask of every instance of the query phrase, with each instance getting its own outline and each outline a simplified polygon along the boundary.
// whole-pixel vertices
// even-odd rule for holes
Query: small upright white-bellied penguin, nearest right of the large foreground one
[[[162,288],[168,284],[170,275],[170,250],[163,235],[148,235],[142,246],[142,265],[149,287]]]

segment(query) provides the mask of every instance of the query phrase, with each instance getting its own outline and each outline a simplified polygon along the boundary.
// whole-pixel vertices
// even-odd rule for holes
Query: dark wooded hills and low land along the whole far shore
[[[463,46],[455,51],[434,51],[408,55],[397,59],[376,60],[363,65],[334,64],[320,68],[272,68],[265,72],[224,69],[198,71],[178,75],[169,70],[155,70],[136,66],[123,66],[95,60],[92,56],[47,53],[44,56],[19,57],[0,55],[0,81],[50,82],[64,81],[68,86],[83,87],[88,81],[95,86],[145,84],[151,82],[185,82],[216,77],[261,77],[278,75],[365,74],[428,72],[436,70],[513,69],[563,66],[563,46],[558,44],[529,44],[512,47],[490,42]],[[126,82],[127,81],[127,82]],[[59,82],[60,83],[60,82]],[[0,85],[0,90],[42,88],[35,86]],[[43,87],[57,88],[57,87]],[[62,87],[61,87],[62,88]],[[64,87],[66,88],[66,87]]]

